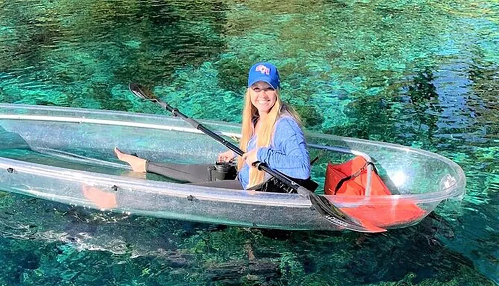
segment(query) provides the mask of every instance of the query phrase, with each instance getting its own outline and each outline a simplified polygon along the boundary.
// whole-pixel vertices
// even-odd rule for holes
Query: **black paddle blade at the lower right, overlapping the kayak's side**
[[[332,224],[352,231],[364,233],[378,233],[386,231],[386,229],[374,225],[364,226],[361,223],[354,221],[353,218],[346,215],[323,196],[311,193],[310,201],[312,202],[312,206],[322,215],[322,217]]]

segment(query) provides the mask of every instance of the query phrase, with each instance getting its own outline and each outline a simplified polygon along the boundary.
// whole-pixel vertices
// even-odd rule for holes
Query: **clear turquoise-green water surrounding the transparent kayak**
[[[0,193],[1,285],[499,284],[499,5],[489,1],[0,0],[0,102],[239,122],[271,60],[308,131],[444,155],[461,203],[384,235],[278,232]],[[1,189],[1,186],[0,186]]]

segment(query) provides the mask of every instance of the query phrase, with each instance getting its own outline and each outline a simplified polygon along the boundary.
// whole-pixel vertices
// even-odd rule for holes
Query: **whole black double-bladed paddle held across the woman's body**
[[[221,136],[215,134],[211,130],[209,130],[206,127],[204,127],[203,125],[201,125],[196,120],[187,117],[185,114],[181,113],[177,108],[173,108],[170,105],[168,105],[168,103],[161,101],[158,97],[156,97],[156,95],[154,95],[152,92],[146,90],[142,86],[138,85],[137,83],[130,83],[128,88],[135,96],[159,104],[161,107],[172,112],[172,114],[174,116],[182,118],[183,120],[185,120],[186,122],[191,124],[194,128],[200,130],[201,132],[203,132],[206,135],[210,136],[211,138],[215,139],[216,141],[218,141],[222,145],[229,148],[234,153],[238,154],[239,156],[243,156],[244,152],[241,149],[239,149],[236,145],[225,140]],[[256,164],[256,167],[258,168],[258,170],[265,171],[268,174],[270,174],[271,176],[275,177],[276,179],[278,179],[279,181],[284,183],[286,186],[295,190],[301,196],[303,196],[305,198],[309,198],[314,209],[317,210],[319,212],[319,214],[321,214],[324,219],[331,222],[332,224],[335,224],[335,225],[340,226],[340,227],[345,228],[345,229],[358,231],[358,232],[373,233],[373,232],[386,231],[386,229],[383,229],[383,228],[380,228],[380,227],[377,227],[374,225],[364,226],[364,225],[360,224],[355,219],[353,219],[352,217],[348,216],[345,212],[340,210],[338,207],[334,206],[324,196],[318,196],[317,194],[311,192],[310,190],[306,189],[305,187],[294,182],[289,177],[287,177],[285,174],[270,168],[267,164],[265,164],[263,162],[258,162]]]

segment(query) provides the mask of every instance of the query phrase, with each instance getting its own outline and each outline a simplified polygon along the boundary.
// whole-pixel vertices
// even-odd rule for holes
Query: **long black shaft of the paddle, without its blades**
[[[185,120],[186,122],[188,122],[189,124],[191,124],[194,128],[200,130],[201,132],[205,133],[206,135],[210,136],[211,138],[217,140],[218,142],[220,142],[221,144],[223,144],[224,146],[226,146],[227,148],[229,148],[231,151],[235,152],[239,156],[243,156],[244,152],[241,149],[239,149],[236,145],[234,145],[231,142],[225,140],[224,138],[222,138],[218,134],[214,133],[210,129],[208,129],[205,126],[203,126],[198,121],[196,121],[196,120],[188,117],[187,115],[183,114],[177,108],[171,107],[166,102],[159,101],[159,100],[155,100],[155,101],[156,101],[156,103],[158,103],[159,105],[161,105],[163,108],[165,108],[166,110],[170,111],[174,116],[178,116],[178,117],[182,118],[183,120]],[[268,174],[270,174],[271,176],[274,176],[275,178],[277,178],[278,180],[280,180],[282,183],[286,184],[288,187],[290,187],[293,190],[295,190],[296,192],[298,192],[298,194],[309,195],[310,193],[312,193],[310,190],[308,190],[307,188],[305,188],[305,187],[301,186],[300,184],[294,182],[293,180],[289,179],[286,175],[282,174],[281,172],[279,172],[277,170],[270,169],[268,167],[268,165],[265,164],[265,163],[263,163],[263,162],[257,162],[256,163],[256,167],[258,168],[258,170],[263,170],[263,171],[267,172]]]

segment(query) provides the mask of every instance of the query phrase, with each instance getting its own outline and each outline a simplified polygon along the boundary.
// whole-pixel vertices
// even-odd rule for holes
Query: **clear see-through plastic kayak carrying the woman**
[[[239,125],[201,123],[227,140],[240,136]],[[306,137],[310,157],[319,158],[312,166],[312,177],[319,183],[317,194],[323,194],[327,163],[342,163],[354,156],[374,162],[392,193],[355,198],[325,195],[334,205],[346,211],[371,209],[390,214],[398,204],[411,202],[422,210],[414,219],[395,220],[384,228],[414,225],[440,202],[460,200],[465,194],[462,169],[440,155],[332,135]],[[109,209],[116,212],[246,227],[342,229],[323,219],[309,199],[298,194],[182,184],[134,173],[116,159],[114,147],[153,161],[185,164],[214,163],[217,154],[226,151],[173,116],[0,104],[0,139],[1,191],[102,209],[89,199],[91,189],[112,196],[116,204]]]

